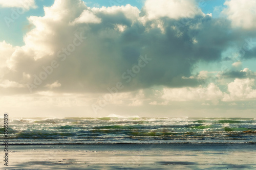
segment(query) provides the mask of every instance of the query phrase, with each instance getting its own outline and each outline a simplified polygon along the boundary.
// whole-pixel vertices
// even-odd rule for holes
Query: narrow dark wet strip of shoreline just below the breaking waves
[[[11,145],[9,151],[19,152],[24,150],[54,150],[54,151],[80,151],[80,150],[119,150],[119,151],[255,151],[254,144],[249,143],[171,143],[171,144],[22,144]]]

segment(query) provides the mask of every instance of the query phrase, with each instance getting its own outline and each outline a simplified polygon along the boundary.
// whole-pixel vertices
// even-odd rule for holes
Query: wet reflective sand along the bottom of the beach
[[[9,148],[9,166],[3,166],[6,169],[256,169],[255,144],[63,144]]]

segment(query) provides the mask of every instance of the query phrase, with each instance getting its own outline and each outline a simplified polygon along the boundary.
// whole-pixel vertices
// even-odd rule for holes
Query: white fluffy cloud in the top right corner
[[[254,0],[227,0],[227,6],[222,13],[227,15],[233,27],[244,29],[256,28],[256,1]]]

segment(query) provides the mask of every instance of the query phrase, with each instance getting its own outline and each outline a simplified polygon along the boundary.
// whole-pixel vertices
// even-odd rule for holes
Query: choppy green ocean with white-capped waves
[[[255,143],[256,118],[10,118],[8,133],[9,144]]]

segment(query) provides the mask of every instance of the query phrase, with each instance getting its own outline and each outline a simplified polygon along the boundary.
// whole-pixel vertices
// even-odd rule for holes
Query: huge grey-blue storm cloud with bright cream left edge
[[[200,79],[184,79],[193,76],[195,64],[220,61],[230,45],[246,36],[232,32],[224,18],[204,15],[194,1],[160,1],[163,13],[153,4],[146,1],[140,11],[131,5],[89,8],[79,0],[56,0],[44,8],[45,16],[28,18],[34,28],[24,36],[24,46],[0,44],[6,47],[1,64],[8,68],[2,80],[30,90],[0,91],[36,93],[56,81],[61,86],[52,90],[59,93],[108,93],[118,82],[124,86],[118,92],[195,88],[207,76],[200,72]],[[169,14],[190,5],[196,12],[185,19],[177,10]]]

